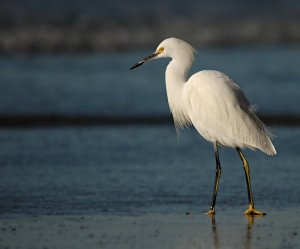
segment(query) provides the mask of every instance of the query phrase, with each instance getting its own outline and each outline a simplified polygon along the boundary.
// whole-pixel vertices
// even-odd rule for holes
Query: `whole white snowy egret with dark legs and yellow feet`
[[[194,125],[196,130],[213,143],[216,159],[216,176],[211,207],[208,214],[215,214],[215,204],[221,164],[218,145],[235,148],[243,163],[246,175],[249,207],[245,215],[264,215],[254,208],[250,182],[249,163],[241,148],[259,149],[268,155],[276,150],[270,132],[255,115],[240,86],[222,72],[203,70],[188,77],[194,62],[195,50],[187,42],[168,38],[156,51],[130,69],[158,58],[171,58],[166,69],[167,97],[176,129]]]

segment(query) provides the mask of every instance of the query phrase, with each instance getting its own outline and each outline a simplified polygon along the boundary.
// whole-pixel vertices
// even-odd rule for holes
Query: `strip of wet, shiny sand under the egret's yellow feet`
[[[240,210],[205,214],[9,217],[0,248],[299,248],[299,209],[247,219]]]

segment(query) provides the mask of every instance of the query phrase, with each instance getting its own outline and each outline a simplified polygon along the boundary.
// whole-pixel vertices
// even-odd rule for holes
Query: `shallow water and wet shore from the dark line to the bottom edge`
[[[278,127],[276,157],[247,151],[244,173],[221,149],[217,214],[208,210],[213,148],[165,126],[0,130],[0,248],[298,248],[300,129]],[[186,213],[190,213],[186,215]]]

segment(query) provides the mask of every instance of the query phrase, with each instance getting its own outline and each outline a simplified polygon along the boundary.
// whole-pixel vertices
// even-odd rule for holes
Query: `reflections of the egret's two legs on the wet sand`
[[[214,249],[220,249],[220,238],[218,234],[218,225],[216,222],[216,218],[214,215],[209,215],[211,219],[211,229],[212,229],[212,241],[213,241],[213,248]],[[248,220],[246,231],[245,231],[245,242],[243,243],[243,248],[244,249],[251,249],[251,240],[252,240],[252,231],[254,227],[254,220],[256,218],[259,218],[261,216],[245,216],[246,219]]]

